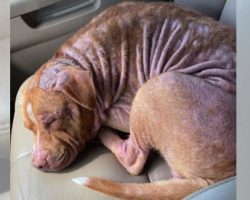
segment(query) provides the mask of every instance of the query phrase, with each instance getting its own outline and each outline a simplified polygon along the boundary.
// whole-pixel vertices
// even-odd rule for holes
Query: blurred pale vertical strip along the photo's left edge
[[[8,0],[1,1],[0,12],[0,199],[9,199],[10,168],[10,21]]]

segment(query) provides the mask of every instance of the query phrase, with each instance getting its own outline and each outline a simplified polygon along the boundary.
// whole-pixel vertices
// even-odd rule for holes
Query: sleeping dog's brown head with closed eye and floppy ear
[[[34,133],[33,166],[44,171],[68,166],[95,136],[95,87],[90,72],[48,63],[23,92],[25,127]]]

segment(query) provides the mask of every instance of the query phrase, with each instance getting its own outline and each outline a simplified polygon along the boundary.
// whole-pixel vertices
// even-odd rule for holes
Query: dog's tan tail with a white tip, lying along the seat
[[[131,200],[180,200],[188,194],[209,185],[202,178],[170,179],[154,183],[117,183],[100,178],[79,177],[74,182],[99,192]]]

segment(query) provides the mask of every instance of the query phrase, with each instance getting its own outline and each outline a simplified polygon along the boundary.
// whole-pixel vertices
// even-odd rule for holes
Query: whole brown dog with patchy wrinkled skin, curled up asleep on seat
[[[75,179],[123,199],[182,199],[235,175],[235,31],[167,3],[122,3],[95,17],[24,92],[33,165],[68,166],[97,133],[131,174],[151,149],[173,179]],[[130,133],[121,139],[116,130]]]

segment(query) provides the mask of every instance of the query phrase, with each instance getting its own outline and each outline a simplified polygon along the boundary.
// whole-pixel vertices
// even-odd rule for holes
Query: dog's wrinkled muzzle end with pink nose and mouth
[[[32,154],[32,164],[42,171],[54,172],[65,169],[75,158],[76,154],[70,150],[61,151],[56,156],[44,151],[40,154]]]

